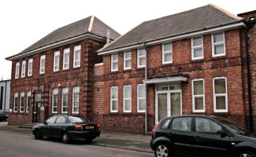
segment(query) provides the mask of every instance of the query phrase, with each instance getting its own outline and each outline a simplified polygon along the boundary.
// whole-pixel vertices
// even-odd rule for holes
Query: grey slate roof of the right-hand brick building
[[[145,21],[120,38],[117,38],[114,42],[99,49],[98,52],[132,46],[159,38],[186,34],[191,31],[201,31],[202,29],[224,24],[236,23],[241,19],[216,5],[205,5],[182,13],[164,16],[156,20]]]

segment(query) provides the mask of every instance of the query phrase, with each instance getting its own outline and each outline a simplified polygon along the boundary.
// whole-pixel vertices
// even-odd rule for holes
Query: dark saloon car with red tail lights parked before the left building
[[[46,122],[33,126],[32,133],[35,139],[43,137],[60,137],[63,143],[69,143],[75,138],[84,138],[92,141],[100,136],[98,124],[92,123],[83,116],[75,115],[54,115]]]

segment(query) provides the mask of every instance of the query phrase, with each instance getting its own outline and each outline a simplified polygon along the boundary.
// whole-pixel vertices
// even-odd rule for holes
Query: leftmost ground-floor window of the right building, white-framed
[[[110,88],[110,111],[118,111],[118,86],[112,86]]]

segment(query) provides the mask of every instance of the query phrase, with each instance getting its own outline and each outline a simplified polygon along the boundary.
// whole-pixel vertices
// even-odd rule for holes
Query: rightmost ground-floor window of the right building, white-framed
[[[213,79],[213,110],[214,112],[228,111],[227,79],[225,77]]]

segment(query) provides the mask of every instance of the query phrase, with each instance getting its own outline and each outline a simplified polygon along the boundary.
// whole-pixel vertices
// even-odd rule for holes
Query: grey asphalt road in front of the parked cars
[[[120,148],[108,148],[87,144],[85,141],[76,141],[71,144],[62,144],[59,140],[44,138],[35,140],[34,137],[0,131],[1,157],[34,157],[34,156],[154,156],[153,153],[137,152]]]

